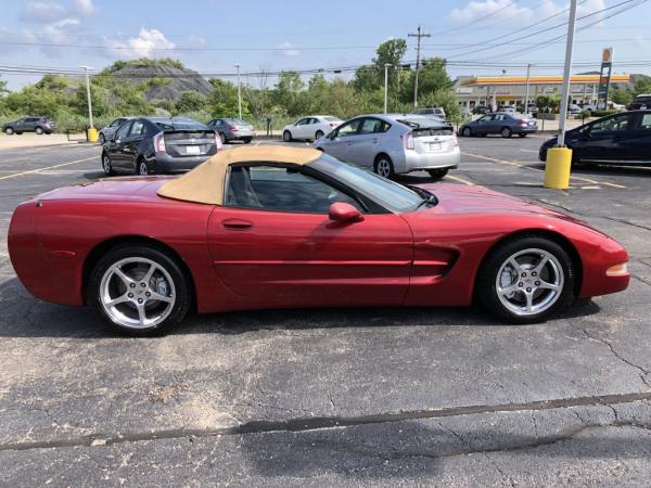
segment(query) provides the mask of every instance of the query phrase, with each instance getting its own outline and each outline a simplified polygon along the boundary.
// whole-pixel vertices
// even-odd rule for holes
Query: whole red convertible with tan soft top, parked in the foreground
[[[626,251],[484,188],[404,187],[319,151],[241,147],[179,178],[21,204],[9,252],[38,298],[158,333],[190,310],[468,306],[537,322],[628,285]]]

